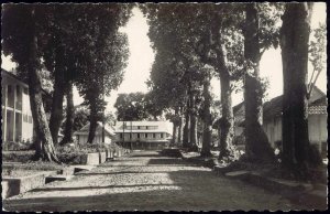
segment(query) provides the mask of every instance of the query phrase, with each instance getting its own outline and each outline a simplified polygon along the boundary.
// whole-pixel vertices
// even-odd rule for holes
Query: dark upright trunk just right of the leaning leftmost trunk
[[[64,56],[64,49],[57,45],[56,49],[56,64],[55,64],[55,81],[54,81],[54,93],[52,111],[50,119],[50,129],[54,145],[58,143],[58,131],[63,120],[63,99],[65,94],[65,78],[63,71],[62,58]]]

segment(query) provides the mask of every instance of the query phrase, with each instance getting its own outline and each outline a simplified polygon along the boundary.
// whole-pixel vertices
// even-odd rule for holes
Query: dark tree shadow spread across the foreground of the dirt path
[[[154,161],[154,160],[153,160]],[[161,162],[164,160],[161,160]],[[173,160],[174,161],[174,160]],[[176,161],[174,161],[176,162]],[[158,163],[156,161],[156,163]],[[164,163],[164,162],[163,162]],[[165,164],[165,163],[164,163]],[[166,164],[167,163],[166,160]],[[132,173],[123,171],[119,173]],[[136,172],[134,172],[136,173]],[[145,172],[143,172],[145,173]],[[153,173],[153,172],[146,172]],[[165,184],[128,184],[78,188],[45,188],[34,192],[54,192],[47,197],[15,199],[3,202],[7,211],[233,211],[233,210],[308,210],[241,181],[215,175],[206,169],[154,172],[166,173]],[[133,178],[133,176],[132,176]],[[84,195],[86,191],[106,193]],[[117,190],[119,192],[111,192]],[[120,192],[122,190],[122,192]],[[79,196],[55,196],[56,191],[77,191]],[[77,194],[76,193],[76,194]]]

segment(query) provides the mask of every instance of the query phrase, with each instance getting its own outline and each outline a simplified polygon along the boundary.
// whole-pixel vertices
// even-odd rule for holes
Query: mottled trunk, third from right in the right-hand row
[[[219,142],[219,160],[233,160],[234,157],[234,146],[233,146],[233,110],[231,100],[231,79],[226,71],[220,73],[220,84],[221,84],[221,106],[222,106],[222,117],[219,121],[220,129],[220,142]]]

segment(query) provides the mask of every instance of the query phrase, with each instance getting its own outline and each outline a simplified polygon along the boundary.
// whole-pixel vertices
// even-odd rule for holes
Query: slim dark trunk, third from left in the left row
[[[65,122],[65,130],[64,137],[61,141],[61,145],[66,145],[73,141],[73,127],[74,127],[74,119],[75,119],[75,107],[74,107],[74,92],[73,92],[73,84],[68,84],[67,92],[66,92],[66,122]]]

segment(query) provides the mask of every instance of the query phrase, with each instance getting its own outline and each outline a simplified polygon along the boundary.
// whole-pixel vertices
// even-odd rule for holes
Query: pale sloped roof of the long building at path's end
[[[128,128],[124,129],[122,128],[123,122],[125,122],[127,126],[157,126],[156,129],[132,129]],[[168,121],[147,121],[147,120],[141,120],[141,121],[117,121],[116,124],[116,131],[114,132],[167,132],[170,133],[169,131],[170,122]]]

